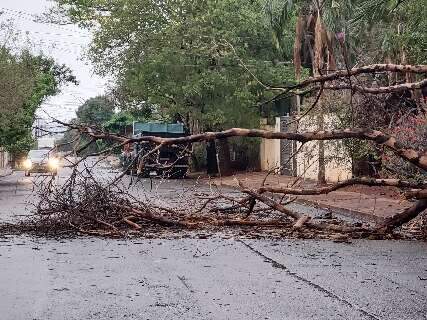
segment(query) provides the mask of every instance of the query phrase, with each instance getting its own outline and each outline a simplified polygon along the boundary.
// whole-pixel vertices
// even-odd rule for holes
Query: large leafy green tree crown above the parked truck
[[[129,102],[199,129],[258,125],[255,106],[272,93],[242,61],[263,83],[293,81],[283,63],[292,47],[276,50],[265,1],[56,2],[71,20],[97,26],[90,57],[99,73],[116,76]]]

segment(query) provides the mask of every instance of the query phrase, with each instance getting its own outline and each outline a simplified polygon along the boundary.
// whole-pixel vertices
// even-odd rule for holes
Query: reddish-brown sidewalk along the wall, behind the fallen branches
[[[235,178],[251,189],[261,186],[265,172],[238,173],[231,177],[211,179],[218,186],[238,187]],[[270,175],[266,180],[269,186],[291,186],[295,177]],[[304,181],[299,187],[315,185],[313,181]],[[297,202],[328,208],[343,215],[356,216],[369,221],[381,222],[411,206],[409,201],[399,197],[396,188],[353,186],[316,196],[299,196]]]

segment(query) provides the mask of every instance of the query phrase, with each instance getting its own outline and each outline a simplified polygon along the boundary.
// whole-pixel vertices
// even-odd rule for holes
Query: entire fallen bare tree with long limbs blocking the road
[[[295,86],[282,87],[282,91],[292,92],[320,84],[315,102],[302,115],[298,115],[297,122],[312,112],[319,102],[324,89],[362,91],[364,94],[384,94],[402,92],[402,90],[416,90],[425,85],[425,79],[385,87],[371,88],[355,85],[352,78],[358,75],[375,74],[378,72],[401,72],[424,74],[427,66],[410,65],[371,65],[340,70],[325,75],[308,78]],[[357,78],[356,78],[357,79]],[[353,79],[354,80],[354,79]],[[327,84],[328,82],[332,85]],[[343,84],[344,83],[344,84]],[[127,144],[139,143],[151,147],[146,154],[137,159],[138,166],[143,166],[144,160],[158,152],[161,146],[187,146],[206,141],[228,139],[232,137],[280,139],[296,141],[304,145],[310,141],[332,141],[354,139],[367,141],[391,151],[396,157],[406,163],[411,163],[422,172],[427,171],[427,150],[412,146],[407,141],[399,141],[392,134],[370,128],[349,127],[338,130],[317,130],[307,132],[271,132],[259,129],[232,128],[219,132],[204,132],[179,138],[162,138],[158,136],[126,137],[113,134],[94,126],[67,124],[62,125],[75,130],[81,135],[90,137],[90,141],[77,150],[82,152],[88,145],[97,140],[109,141],[112,145],[92,156],[104,157],[116,148]],[[297,151],[298,152],[298,151]],[[295,157],[293,154],[292,157]],[[265,186],[264,181],[255,189],[250,189],[239,182],[241,195],[229,196],[218,192],[207,198],[200,198],[199,202],[188,205],[183,201],[181,208],[161,206],[150,201],[136,198],[124,188],[119,188],[120,179],[124,173],[118,175],[108,183],[100,183],[90,174],[85,175],[78,170],[84,162],[82,158],[72,165],[74,173],[63,186],[43,185],[41,202],[37,207],[38,219],[34,226],[52,227],[53,230],[74,230],[90,234],[123,235],[141,233],[147,228],[156,226],[161,228],[194,230],[200,228],[238,227],[238,228],[270,228],[274,227],[289,234],[334,235],[341,234],[351,237],[365,237],[369,235],[387,236],[396,228],[417,218],[427,208],[427,182],[408,181],[404,179],[378,179],[358,177],[336,184],[302,188],[297,183],[288,186]],[[291,160],[289,160],[291,161]],[[159,164],[160,165],[160,164]],[[298,180],[298,179],[297,179]],[[298,196],[328,194],[336,190],[353,186],[382,186],[395,187],[405,193],[407,199],[415,200],[413,205],[396,216],[383,221],[378,225],[351,224],[345,221],[325,221],[316,219],[305,213],[298,212],[291,206]],[[291,197],[292,196],[292,197]],[[192,200],[198,198],[191,197]]]

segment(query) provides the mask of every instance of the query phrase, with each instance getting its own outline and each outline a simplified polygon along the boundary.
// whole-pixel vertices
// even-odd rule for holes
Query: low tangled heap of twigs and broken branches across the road
[[[17,224],[3,224],[0,230],[108,237],[187,231],[213,234],[227,230],[255,237],[274,235],[340,241],[425,236],[414,226],[406,228],[409,232],[403,234],[384,232],[375,226],[344,221],[336,216],[312,217],[290,210],[287,205],[292,200],[278,201],[267,193],[240,185],[241,193],[237,195],[231,196],[219,189],[215,194],[193,191],[166,207],[147,194],[136,196],[120,184],[101,182],[90,170],[74,169],[64,184],[57,184],[53,179],[39,182],[35,190],[40,201],[34,215]]]

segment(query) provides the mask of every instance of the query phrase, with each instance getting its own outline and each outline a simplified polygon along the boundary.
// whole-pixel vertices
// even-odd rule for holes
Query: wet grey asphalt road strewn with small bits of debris
[[[0,182],[1,221],[28,214],[32,179]],[[2,320],[427,319],[423,242],[9,236],[0,270]]]

